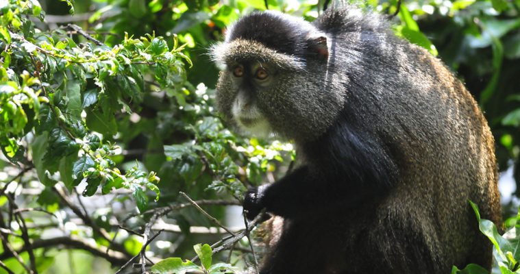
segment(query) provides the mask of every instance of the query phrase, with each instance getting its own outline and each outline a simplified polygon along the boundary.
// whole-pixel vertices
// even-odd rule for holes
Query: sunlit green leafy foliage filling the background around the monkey
[[[321,9],[310,0],[268,3],[309,21]],[[357,3],[382,14],[397,6],[397,0]],[[214,112],[218,72],[207,48],[241,14],[265,8],[261,0],[1,1],[1,261],[16,273],[25,267],[62,273],[53,260],[93,262],[91,254],[106,254],[116,269],[139,254],[146,262],[147,255],[158,262],[154,273],[251,264],[250,253],[223,256],[196,245],[221,234],[179,192],[223,222],[225,209],[216,205],[240,203],[247,187],[282,176],[295,157],[290,144],[232,134]],[[438,55],[466,82],[486,111],[500,166],[512,162],[517,178],[519,10],[518,0],[404,1],[391,19],[398,36]],[[62,234],[53,234],[56,228]],[[160,229],[172,233],[148,242]],[[55,238],[40,239],[49,234]],[[55,239],[62,241],[41,247]],[[82,245],[89,239],[95,249]],[[34,249],[23,249],[30,242]],[[516,253],[498,247],[505,257],[497,262],[514,269]],[[184,259],[195,254],[200,264]],[[231,264],[219,263],[226,257]]]

